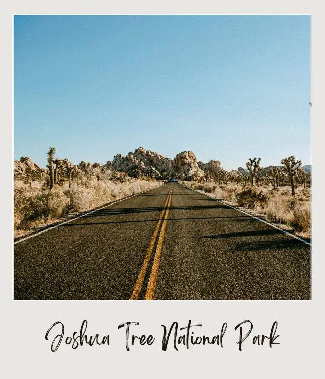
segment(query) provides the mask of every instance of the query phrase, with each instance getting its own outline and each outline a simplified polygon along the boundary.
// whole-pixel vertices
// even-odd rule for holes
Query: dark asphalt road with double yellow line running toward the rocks
[[[310,299],[310,246],[166,183],[14,244],[14,299]]]

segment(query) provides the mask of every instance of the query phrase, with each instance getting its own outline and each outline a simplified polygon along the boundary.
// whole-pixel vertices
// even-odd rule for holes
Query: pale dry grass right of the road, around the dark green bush
[[[238,205],[236,195],[249,187],[240,185],[218,185],[215,182],[197,183],[184,181],[186,187],[211,193],[219,200],[226,200]],[[254,215],[262,215],[270,222],[279,223],[286,230],[296,232],[303,238],[310,238],[310,188],[295,189],[295,199],[291,197],[291,187],[276,187],[263,185],[256,188],[269,197],[261,207],[258,202],[252,210],[245,209]]]

